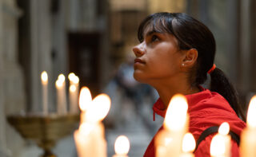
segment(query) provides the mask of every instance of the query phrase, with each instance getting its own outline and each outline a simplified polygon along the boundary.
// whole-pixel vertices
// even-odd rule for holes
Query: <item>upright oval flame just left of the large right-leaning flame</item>
[[[82,87],[79,95],[79,108],[82,112],[85,112],[92,101],[90,89],[87,87]]]

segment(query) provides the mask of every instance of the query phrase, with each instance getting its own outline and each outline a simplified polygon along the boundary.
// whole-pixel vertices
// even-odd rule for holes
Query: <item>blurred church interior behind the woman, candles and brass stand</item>
[[[104,120],[108,156],[118,135],[130,139],[131,157],[143,155],[161,117],[153,122],[154,89],[133,75],[132,47],[139,22],[159,11],[185,12],[209,26],[217,41],[215,64],[238,88],[246,111],[256,92],[256,2],[254,0],[0,0],[0,156],[39,156],[6,116],[42,111],[40,74],[49,75],[50,112],[56,111],[54,81],[75,73],[80,87],[112,100]],[[54,153],[76,155],[73,135]]]

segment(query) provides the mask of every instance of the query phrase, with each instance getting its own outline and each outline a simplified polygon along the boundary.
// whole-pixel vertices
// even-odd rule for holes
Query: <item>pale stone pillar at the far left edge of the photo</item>
[[[24,76],[18,63],[18,18],[21,15],[14,0],[0,1],[0,156],[16,156],[23,142],[6,123],[6,116],[24,112],[26,104]]]

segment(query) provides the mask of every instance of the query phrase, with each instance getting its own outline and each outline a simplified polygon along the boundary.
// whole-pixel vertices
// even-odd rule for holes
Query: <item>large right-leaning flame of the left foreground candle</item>
[[[86,120],[90,122],[102,121],[110,111],[110,96],[100,94],[94,98],[92,104],[87,109]]]

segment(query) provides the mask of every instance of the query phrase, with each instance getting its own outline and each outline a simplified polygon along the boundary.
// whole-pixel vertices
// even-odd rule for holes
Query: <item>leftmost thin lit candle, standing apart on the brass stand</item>
[[[48,75],[46,71],[41,74],[42,80],[42,112],[44,115],[48,114]]]

